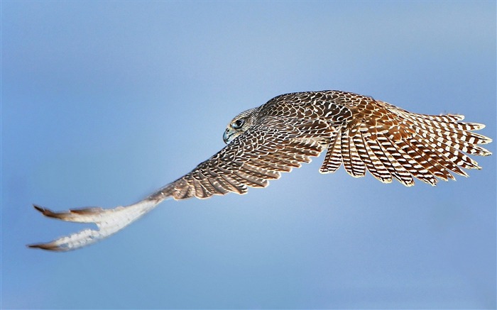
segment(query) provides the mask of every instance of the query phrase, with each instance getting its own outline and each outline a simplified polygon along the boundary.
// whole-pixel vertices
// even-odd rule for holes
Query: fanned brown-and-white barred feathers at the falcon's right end
[[[451,171],[467,177],[461,168],[481,169],[465,153],[491,155],[479,146],[491,143],[491,138],[471,132],[485,126],[461,122],[462,115],[414,114],[360,95],[342,104],[349,106],[352,117],[329,141],[322,173],[343,164],[353,177],[364,177],[367,170],[384,183],[395,178],[412,186],[416,177],[435,185],[437,178],[454,179]]]

